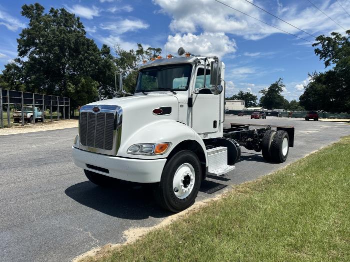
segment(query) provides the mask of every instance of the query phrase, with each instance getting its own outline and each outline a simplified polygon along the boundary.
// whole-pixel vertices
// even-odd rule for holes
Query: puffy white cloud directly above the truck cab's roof
[[[236,51],[236,43],[224,33],[203,32],[198,35],[192,33],[169,35],[166,47],[169,52],[176,53],[182,46],[187,52],[200,55],[217,55],[219,57]]]

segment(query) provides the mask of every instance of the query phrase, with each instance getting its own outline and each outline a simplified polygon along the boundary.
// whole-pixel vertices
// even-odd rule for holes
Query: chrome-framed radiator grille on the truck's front
[[[121,107],[101,105],[99,108],[99,113],[92,112],[91,106],[80,109],[80,149],[116,155],[120,145]]]

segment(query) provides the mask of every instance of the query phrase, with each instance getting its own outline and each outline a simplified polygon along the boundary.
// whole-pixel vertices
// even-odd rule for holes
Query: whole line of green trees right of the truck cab
[[[250,92],[239,91],[227,99],[244,100],[246,107],[261,106],[266,109],[287,109],[292,111],[320,110],[327,112],[350,112],[350,30],[345,36],[332,32],[330,36],[316,37],[312,46],[314,52],[323,60],[325,72],[309,73],[310,81],[304,86],[299,101],[286,100],[282,95],[285,85],[279,78],[268,88],[262,89],[257,96]]]

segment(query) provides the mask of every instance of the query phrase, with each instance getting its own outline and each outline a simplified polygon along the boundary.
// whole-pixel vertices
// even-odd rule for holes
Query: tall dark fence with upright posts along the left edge
[[[70,119],[68,97],[35,94],[0,88],[0,127]]]

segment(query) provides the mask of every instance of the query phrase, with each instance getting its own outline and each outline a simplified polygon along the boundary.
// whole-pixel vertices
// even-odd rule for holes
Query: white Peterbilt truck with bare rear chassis
[[[233,170],[240,146],[280,163],[294,140],[293,127],[224,128],[223,62],[183,48],[177,53],[132,69],[138,74],[134,94],[122,88],[122,75],[131,70],[121,71],[123,97],[81,107],[72,147],[75,165],[91,182],[153,183],[156,201],[172,212],[194,203],[207,174]]]

